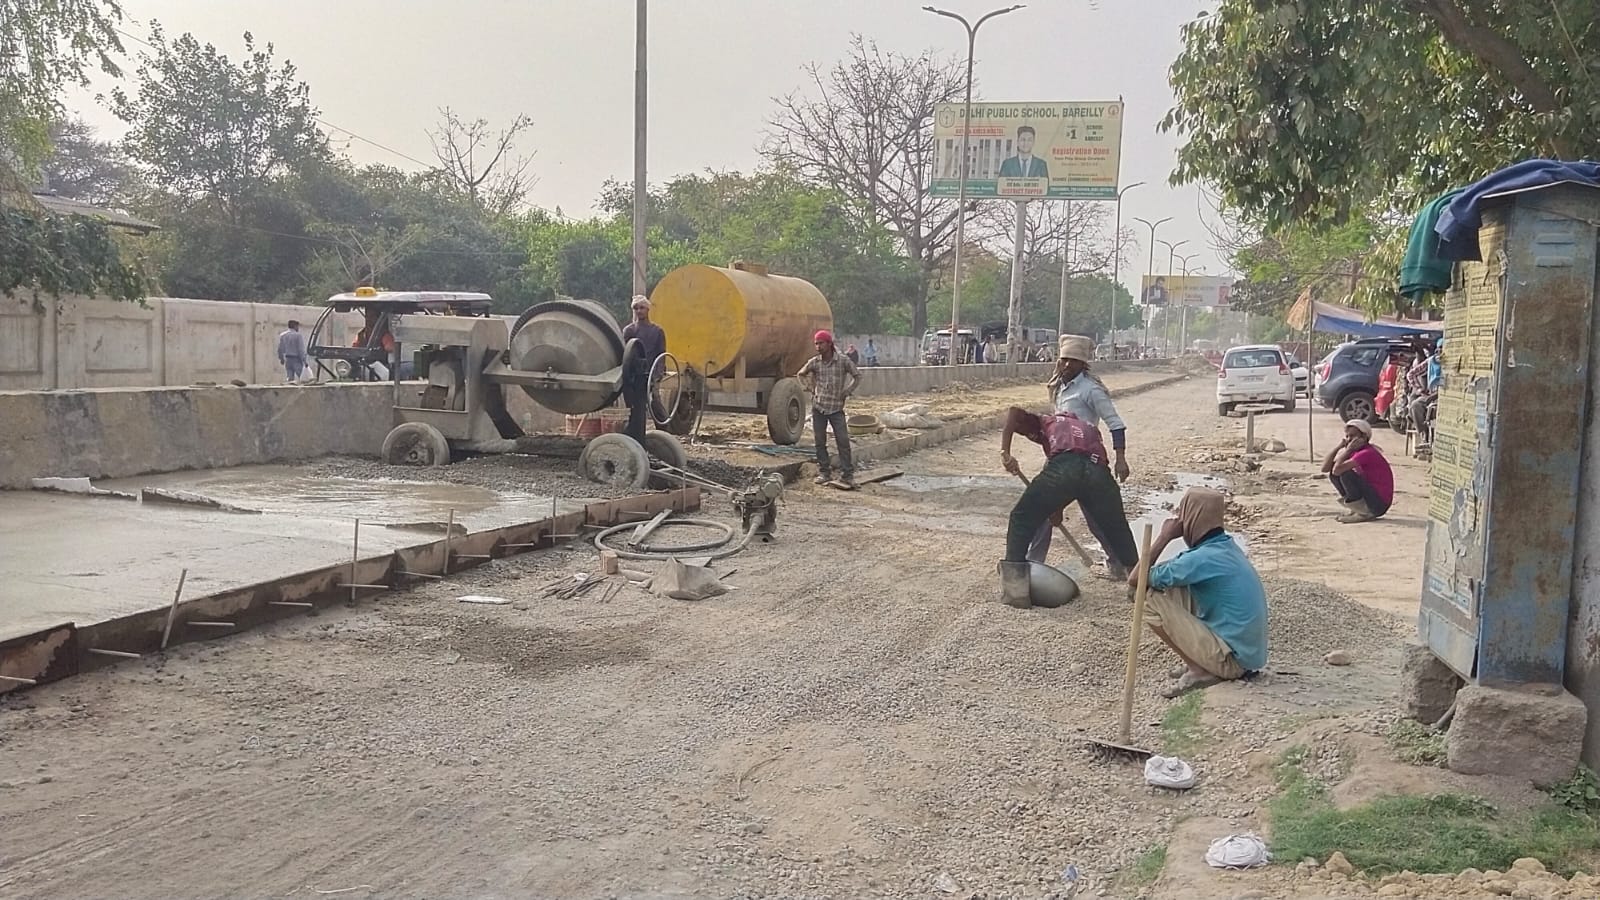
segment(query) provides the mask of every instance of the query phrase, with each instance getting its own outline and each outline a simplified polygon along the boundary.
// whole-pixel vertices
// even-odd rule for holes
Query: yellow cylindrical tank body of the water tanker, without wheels
[[[706,378],[794,375],[816,352],[811,336],[834,327],[811,282],[744,263],[667,272],[650,295],[650,317],[667,333],[667,352]]]

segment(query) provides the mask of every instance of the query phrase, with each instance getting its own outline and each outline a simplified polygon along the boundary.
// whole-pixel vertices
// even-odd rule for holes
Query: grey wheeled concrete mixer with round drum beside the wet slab
[[[587,299],[534,304],[509,327],[506,319],[448,312],[395,315],[389,325],[392,360],[411,354],[426,380],[421,389],[395,380],[395,426],[382,447],[392,464],[442,466],[453,450],[514,450],[523,431],[507,410],[507,384],[558,413],[597,413],[616,402],[624,372],[642,352],[637,341],[622,341],[603,306]],[[659,399],[658,407],[672,413]],[[582,447],[578,468],[594,480],[643,488],[651,456],[680,469],[688,461],[675,437],[653,431],[643,447],[624,434],[602,434]]]

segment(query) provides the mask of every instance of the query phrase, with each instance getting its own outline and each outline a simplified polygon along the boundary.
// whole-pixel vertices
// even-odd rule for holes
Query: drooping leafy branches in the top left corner
[[[0,0],[0,175],[45,157],[62,86],[86,85],[91,69],[120,74],[118,22],[117,0]]]

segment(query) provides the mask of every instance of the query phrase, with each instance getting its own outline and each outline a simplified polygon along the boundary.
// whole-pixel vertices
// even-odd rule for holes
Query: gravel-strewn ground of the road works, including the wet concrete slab
[[[899,477],[853,493],[808,476],[792,484],[774,540],[712,564],[722,596],[659,596],[640,583],[667,567],[651,560],[624,560],[640,578],[574,593],[574,578],[602,572],[598,552],[546,528],[531,552],[491,549],[445,578],[11,690],[0,697],[0,895],[1325,895],[1304,871],[1218,873],[1202,857],[1214,838],[1264,828],[1272,767],[1294,745],[1314,748],[1349,801],[1459,778],[1386,762],[1378,737],[1397,716],[1413,631],[1426,464],[1381,436],[1397,463],[1394,511],[1341,527],[1307,447],[1307,421],[1318,450],[1336,440],[1331,415],[1258,416],[1258,440],[1283,452],[1246,461],[1245,424],[1216,415],[1211,380],[1134,370],[1106,381],[1130,423],[1130,517],[1165,517],[1187,484],[1224,487],[1229,527],[1269,588],[1269,671],[1203,692],[1182,733],[1174,701],[1157,695],[1171,658],[1142,642],[1134,738],[1184,753],[1200,775],[1187,793],[1147,788],[1138,765],[1082,745],[1114,730],[1126,588],[1058,548],[1080,601],[997,602],[1021,485],[1000,466],[995,416],[1040,405],[1043,388],[955,388],[856,404],[920,402],[946,424],[861,439],[862,480]],[[763,450],[747,426],[707,415],[690,468],[805,472],[803,456]],[[382,468],[328,458],[109,485],[256,514],[5,493],[8,546],[29,530],[85,536],[61,557],[29,544],[43,575],[13,554],[0,575],[32,573],[40,623],[90,615],[72,605],[88,596],[109,597],[98,601],[106,617],[134,601],[158,613],[182,569],[219,580],[205,591],[242,570],[336,573],[350,557],[346,501],[392,500],[382,524],[443,511],[477,532],[547,517],[554,496],[557,516],[592,535],[582,525],[605,517],[595,503],[627,500],[523,456],[373,480],[392,477]],[[370,493],[344,493],[346,480]],[[738,522],[715,490],[680,506],[696,504],[694,516]],[[608,509],[608,522],[626,519]],[[1082,519],[1069,525],[1096,552]],[[166,556],[147,559],[141,530],[165,532]],[[282,557],[264,549],[272,530],[285,532]],[[362,533],[374,552],[426,546],[429,572],[450,565],[437,533]],[[216,556],[222,543],[234,556]],[[1334,652],[1349,665],[1330,665]],[[1538,799],[1509,780],[1474,790],[1510,809]],[[1165,849],[1165,874],[1139,881],[1154,849]]]

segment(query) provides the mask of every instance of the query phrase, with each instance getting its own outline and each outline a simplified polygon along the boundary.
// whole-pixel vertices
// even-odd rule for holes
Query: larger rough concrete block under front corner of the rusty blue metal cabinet
[[[1546,788],[1578,769],[1587,724],[1584,703],[1557,685],[1469,684],[1456,693],[1446,764],[1466,775],[1515,773]]]

